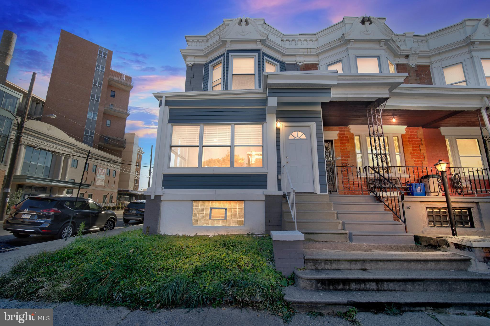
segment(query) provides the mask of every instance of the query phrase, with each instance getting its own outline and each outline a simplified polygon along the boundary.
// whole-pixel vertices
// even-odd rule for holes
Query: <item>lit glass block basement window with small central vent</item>
[[[244,225],[243,201],[195,200],[192,202],[192,225],[241,226]]]

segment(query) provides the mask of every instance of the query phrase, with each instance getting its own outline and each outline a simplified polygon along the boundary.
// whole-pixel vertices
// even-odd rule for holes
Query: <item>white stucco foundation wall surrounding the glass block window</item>
[[[196,199],[196,200],[200,200]],[[233,198],[228,200],[243,200]],[[243,226],[197,226],[192,225],[192,200],[162,200],[160,233],[162,234],[245,234],[264,233],[266,230],[265,201],[245,200]]]

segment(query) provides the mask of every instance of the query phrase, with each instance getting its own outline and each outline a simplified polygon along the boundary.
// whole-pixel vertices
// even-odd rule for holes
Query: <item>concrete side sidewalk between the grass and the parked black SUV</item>
[[[130,226],[127,228],[119,228],[106,232],[88,233],[82,235],[83,237],[100,237],[100,236],[111,236],[116,235],[125,231],[142,229],[143,225],[138,224],[135,226]],[[76,239],[76,236],[69,238],[67,241],[65,239],[41,242],[38,244],[32,244],[28,246],[14,248],[4,253],[0,253],[0,275],[10,270],[10,268],[19,260],[24,259],[27,256],[32,256],[39,254],[44,251],[55,251],[60,249],[67,244],[71,243]]]

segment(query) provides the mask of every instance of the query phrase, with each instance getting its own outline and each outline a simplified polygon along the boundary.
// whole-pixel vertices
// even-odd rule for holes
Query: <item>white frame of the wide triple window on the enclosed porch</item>
[[[196,146],[183,146],[183,147],[198,147],[198,155],[197,155],[197,167],[171,167],[170,163],[172,160],[172,130],[174,126],[199,126],[199,145]],[[230,138],[230,166],[229,167],[203,167],[202,166],[202,147],[206,147],[208,145],[202,145],[203,143],[203,135],[204,135],[204,125],[230,125],[231,126],[231,138]],[[256,166],[233,166],[235,160],[235,125],[261,125],[262,127],[262,167]],[[167,160],[165,163],[165,167],[163,172],[167,173],[210,173],[210,172],[236,172],[236,173],[262,173],[267,172],[267,137],[266,137],[266,123],[265,122],[222,122],[222,123],[169,123],[169,131],[168,131],[168,139],[169,142],[167,144],[168,150],[166,151]],[[246,146],[246,145],[238,145],[238,146]],[[258,145],[255,145],[258,146]],[[177,146],[173,146],[177,147]],[[211,146],[209,146],[211,147]],[[217,145],[217,147],[228,147],[228,145]]]

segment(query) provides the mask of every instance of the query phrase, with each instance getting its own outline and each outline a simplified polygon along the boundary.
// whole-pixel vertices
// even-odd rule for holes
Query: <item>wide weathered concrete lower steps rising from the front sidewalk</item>
[[[285,300],[301,312],[490,307],[490,275],[471,259],[415,245],[305,244],[305,268]],[[389,248],[397,251],[383,252]],[[365,251],[359,251],[359,250]]]

